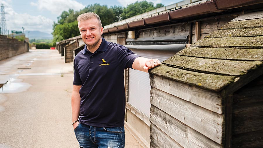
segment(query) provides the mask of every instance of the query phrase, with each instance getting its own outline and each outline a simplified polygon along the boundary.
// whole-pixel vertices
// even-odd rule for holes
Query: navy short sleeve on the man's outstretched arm
[[[133,53],[131,50],[123,45],[120,45],[117,48],[116,52],[119,64],[123,69],[126,69],[128,67],[132,68],[134,60],[139,57],[139,55]]]

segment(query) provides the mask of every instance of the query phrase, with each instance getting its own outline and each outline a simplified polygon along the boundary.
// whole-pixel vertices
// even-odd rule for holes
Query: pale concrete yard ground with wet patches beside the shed
[[[0,148],[78,147],[72,129],[73,67],[56,50],[0,61]],[[141,148],[126,130],[126,148]]]

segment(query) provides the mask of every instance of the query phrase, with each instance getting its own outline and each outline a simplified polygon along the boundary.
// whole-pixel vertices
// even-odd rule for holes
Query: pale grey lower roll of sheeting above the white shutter
[[[154,51],[166,51],[175,52],[184,49],[186,44],[167,44],[167,45],[124,45],[128,49],[139,49],[139,50],[154,50]]]

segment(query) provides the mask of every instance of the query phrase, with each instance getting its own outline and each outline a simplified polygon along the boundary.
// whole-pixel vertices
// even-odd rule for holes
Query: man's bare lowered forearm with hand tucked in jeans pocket
[[[72,95],[71,95],[71,108],[72,108],[72,123],[79,119],[80,114],[80,95],[79,89],[81,85],[73,85]],[[79,122],[73,124],[75,129],[79,125]]]

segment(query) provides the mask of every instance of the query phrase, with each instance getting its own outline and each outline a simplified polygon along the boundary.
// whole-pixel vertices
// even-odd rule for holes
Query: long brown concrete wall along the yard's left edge
[[[7,36],[0,35],[0,60],[28,52],[27,42],[20,42],[17,39],[9,39]]]

